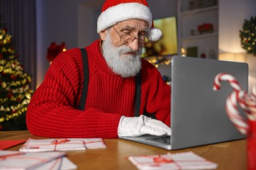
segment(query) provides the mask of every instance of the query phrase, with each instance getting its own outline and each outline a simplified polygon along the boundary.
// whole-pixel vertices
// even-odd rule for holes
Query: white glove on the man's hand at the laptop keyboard
[[[117,129],[119,137],[136,137],[144,134],[171,135],[171,128],[160,120],[155,120],[144,115],[139,117],[121,116]]]

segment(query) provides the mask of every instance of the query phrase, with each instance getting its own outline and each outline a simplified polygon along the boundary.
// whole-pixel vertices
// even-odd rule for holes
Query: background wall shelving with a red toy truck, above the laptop
[[[198,0],[200,1],[200,0]],[[198,2],[195,0],[195,2]],[[179,0],[179,49],[197,47],[198,54],[209,54],[214,51],[218,54],[219,45],[219,3],[217,5],[203,4],[205,6],[198,9],[189,9],[190,0]],[[206,2],[206,1],[205,1]],[[208,1],[207,1],[208,2]],[[196,4],[195,4],[196,5]],[[198,31],[198,26],[202,24],[213,24],[213,31]],[[192,33],[194,34],[192,35]],[[181,52],[180,52],[181,53]]]

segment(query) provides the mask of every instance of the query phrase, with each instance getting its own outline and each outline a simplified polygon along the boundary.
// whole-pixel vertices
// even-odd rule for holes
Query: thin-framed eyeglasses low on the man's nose
[[[116,28],[113,27],[114,30],[116,31]],[[129,33],[122,33],[121,35],[116,31],[117,35],[120,37],[120,42],[122,44],[130,44],[131,42],[135,41],[135,39],[138,40],[139,44],[142,46],[146,46],[149,44],[150,37],[148,35],[139,35],[139,37],[135,37],[134,33],[129,32]]]

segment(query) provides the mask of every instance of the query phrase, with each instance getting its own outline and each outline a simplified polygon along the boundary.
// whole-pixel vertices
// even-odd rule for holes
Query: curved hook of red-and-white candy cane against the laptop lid
[[[228,81],[230,83],[230,86],[232,86],[232,88],[235,91],[242,90],[236,78],[234,78],[234,76],[229,75],[227,73],[219,73],[217,76],[215,76],[213,90],[221,89],[221,81]]]

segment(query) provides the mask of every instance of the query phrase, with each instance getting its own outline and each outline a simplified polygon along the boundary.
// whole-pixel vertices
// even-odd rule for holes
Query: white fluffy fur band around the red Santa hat
[[[100,33],[100,31],[104,31],[118,22],[131,19],[145,20],[148,22],[148,27],[152,27],[152,14],[146,5],[140,3],[120,3],[104,10],[100,14],[98,17],[97,32]]]

